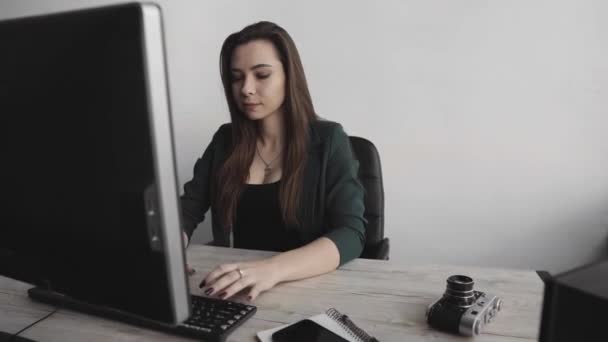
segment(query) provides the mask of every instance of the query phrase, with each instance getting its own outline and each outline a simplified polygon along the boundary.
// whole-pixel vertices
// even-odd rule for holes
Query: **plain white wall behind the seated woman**
[[[116,2],[2,0],[0,18]],[[379,148],[392,259],[560,271],[605,253],[605,1],[159,3],[180,183],[229,119],[223,39],[272,20],[319,114]]]

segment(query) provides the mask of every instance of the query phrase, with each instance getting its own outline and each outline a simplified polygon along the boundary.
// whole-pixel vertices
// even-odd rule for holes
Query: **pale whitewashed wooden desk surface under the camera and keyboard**
[[[196,269],[190,278],[193,294],[206,272],[225,262],[271,255],[262,251],[190,246],[188,260]],[[543,284],[532,270],[481,267],[402,265],[391,261],[357,259],[339,270],[306,280],[284,283],[258,297],[258,311],[232,333],[229,341],[256,341],[257,331],[291,323],[335,307],[380,341],[463,341],[431,330],[427,306],[445,290],[452,274],[475,280],[475,289],[503,298],[503,308],[475,342],[535,341]],[[0,331],[17,332],[53,310],[31,301],[28,284],[0,276]],[[59,310],[22,333],[40,341],[187,341],[179,336],[128,324]]]

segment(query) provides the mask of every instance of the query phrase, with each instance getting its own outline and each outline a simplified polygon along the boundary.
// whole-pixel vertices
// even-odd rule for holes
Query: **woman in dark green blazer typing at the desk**
[[[358,257],[364,190],[348,136],[314,112],[284,29],[259,22],[230,35],[220,69],[232,122],[215,133],[184,185],[183,228],[187,244],[211,208],[214,245],[282,252],[219,265],[201,283],[209,296],[240,292],[252,301]]]

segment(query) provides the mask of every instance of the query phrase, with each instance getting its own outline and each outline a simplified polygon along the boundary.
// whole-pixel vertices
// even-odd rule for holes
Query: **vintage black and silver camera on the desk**
[[[465,336],[479,335],[500,311],[500,298],[473,291],[473,279],[453,275],[447,279],[442,297],[426,311],[426,320],[434,328]]]

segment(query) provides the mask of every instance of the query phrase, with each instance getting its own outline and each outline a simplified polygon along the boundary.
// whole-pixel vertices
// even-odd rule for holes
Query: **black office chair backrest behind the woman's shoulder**
[[[367,220],[362,258],[388,260],[389,240],[384,237],[384,186],[380,155],[374,144],[364,138],[350,137],[355,158],[359,160],[359,181],[365,188]]]

